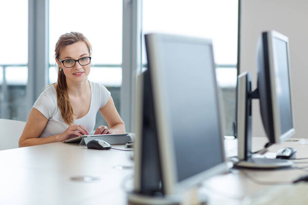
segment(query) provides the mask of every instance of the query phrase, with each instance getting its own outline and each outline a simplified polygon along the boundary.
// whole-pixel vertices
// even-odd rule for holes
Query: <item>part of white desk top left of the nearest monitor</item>
[[[132,178],[131,154],[63,142],[0,151],[0,204],[126,204],[122,182]],[[70,179],[86,175],[100,180]]]

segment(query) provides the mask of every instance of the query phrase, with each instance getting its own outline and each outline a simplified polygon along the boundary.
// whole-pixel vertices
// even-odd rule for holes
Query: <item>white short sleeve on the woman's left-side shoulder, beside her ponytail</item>
[[[56,106],[53,101],[50,94],[43,92],[35,101],[33,108],[40,111],[47,119],[52,118]]]

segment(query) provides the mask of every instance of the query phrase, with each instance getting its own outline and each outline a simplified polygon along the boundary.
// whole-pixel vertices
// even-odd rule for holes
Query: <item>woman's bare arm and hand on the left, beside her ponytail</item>
[[[22,136],[19,139],[19,147],[42,145],[51,142],[63,141],[70,138],[71,135],[81,136],[89,134],[84,126],[73,124],[70,125],[61,134],[38,138],[46,127],[47,122],[48,119],[40,111],[36,110],[35,108],[32,108]]]

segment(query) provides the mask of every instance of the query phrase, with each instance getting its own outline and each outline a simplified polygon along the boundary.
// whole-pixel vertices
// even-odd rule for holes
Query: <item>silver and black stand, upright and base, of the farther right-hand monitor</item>
[[[252,99],[259,98],[258,90],[252,92],[252,80],[248,72],[238,76],[237,136],[238,159],[236,167],[247,169],[280,169],[292,167],[286,159],[260,158],[252,154]]]

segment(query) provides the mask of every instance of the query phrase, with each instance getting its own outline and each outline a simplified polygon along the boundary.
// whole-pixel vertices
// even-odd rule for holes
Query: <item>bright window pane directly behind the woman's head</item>
[[[88,79],[104,85],[120,112],[122,85],[122,0],[49,1],[49,83],[55,83],[54,47],[59,37],[71,31],[83,33],[92,45]],[[97,125],[107,125],[97,114]],[[95,131],[95,130],[94,130]]]

